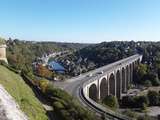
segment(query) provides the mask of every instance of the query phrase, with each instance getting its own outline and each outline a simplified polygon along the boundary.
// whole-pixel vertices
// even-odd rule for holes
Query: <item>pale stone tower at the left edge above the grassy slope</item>
[[[6,57],[6,48],[7,48],[6,44],[0,44],[0,60],[3,60],[6,63],[8,63]]]

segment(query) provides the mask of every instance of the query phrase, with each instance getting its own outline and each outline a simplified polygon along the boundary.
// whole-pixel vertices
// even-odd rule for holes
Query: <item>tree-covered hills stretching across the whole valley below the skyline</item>
[[[20,70],[31,71],[32,62],[43,54],[70,50],[72,54],[58,56],[66,74],[76,76],[89,70],[126,58],[133,54],[143,55],[142,63],[152,71],[158,71],[160,64],[160,42],[114,41],[99,44],[34,42],[9,39],[7,58],[9,64]],[[157,72],[158,73],[158,72]]]

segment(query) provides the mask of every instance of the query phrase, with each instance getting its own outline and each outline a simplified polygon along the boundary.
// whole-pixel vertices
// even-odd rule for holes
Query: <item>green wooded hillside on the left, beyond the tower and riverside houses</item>
[[[44,54],[65,50],[74,51],[87,45],[78,43],[20,41],[9,38],[7,40],[7,59],[9,64],[16,69],[32,71],[32,62]]]

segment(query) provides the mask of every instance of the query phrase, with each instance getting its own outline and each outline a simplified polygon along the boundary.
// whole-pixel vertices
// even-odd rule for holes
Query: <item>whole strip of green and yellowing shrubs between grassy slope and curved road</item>
[[[27,77],[25,75],[25,77]],[[67,92],[53,87],[52,83],[47,80],[31,80],[33,76],[27,77],[27,79],[35,86],[38,86],[43,94],[47,96],[52,103],[54,113],[60,120],[93,120],[94,115],[88,110],[81,107],[77,101],[71,97]]]

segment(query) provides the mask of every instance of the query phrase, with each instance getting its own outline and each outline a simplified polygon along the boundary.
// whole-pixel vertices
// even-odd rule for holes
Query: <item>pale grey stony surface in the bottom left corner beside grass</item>
[[[28,120],[12,96],[0,85],[0,120]]]

